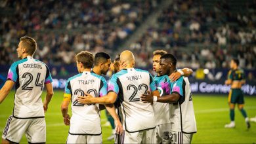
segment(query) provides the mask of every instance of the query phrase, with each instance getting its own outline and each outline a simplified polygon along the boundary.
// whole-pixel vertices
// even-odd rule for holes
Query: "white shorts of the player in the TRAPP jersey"
[[[66,143],[102,143],[102,134],[100,135],[72,135],[68,134]]]

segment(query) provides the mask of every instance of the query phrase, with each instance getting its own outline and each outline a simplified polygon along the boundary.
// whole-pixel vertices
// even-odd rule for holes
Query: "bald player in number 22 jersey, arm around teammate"
[[[135,69],[133,53],[121,52],[120,63],[126,62],[125,69],[114,74],[108,85],[108,95],[102,98],[79,97],[80,103],[114,103],[121,100],[124,143],[156,143],[153,137],[156,121],[151,103],[142,103],[140,96],[148,90],[159,96],[156,84],[148,71]]]

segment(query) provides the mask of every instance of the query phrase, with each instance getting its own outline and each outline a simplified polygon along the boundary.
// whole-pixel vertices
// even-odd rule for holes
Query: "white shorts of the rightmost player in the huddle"
[[[191,143],[193,134],[171,131],[171,143]]]

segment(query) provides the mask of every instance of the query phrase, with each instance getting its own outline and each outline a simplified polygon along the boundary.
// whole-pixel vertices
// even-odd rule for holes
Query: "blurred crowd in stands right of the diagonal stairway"
[[[141,64],[150,64],[152,51],[175,54],[179,67],[228,68],[232,57],[240,66],[256,67],[256,1],[174,0],[162,10],[131,48]]]

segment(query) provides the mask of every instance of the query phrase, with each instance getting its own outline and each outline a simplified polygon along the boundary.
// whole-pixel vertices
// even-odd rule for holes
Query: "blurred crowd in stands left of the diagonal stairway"
[[[72,63],[80,50],[112,52],[159,1],[0,1],[0,64],[17,60],[24,35],[37,40],[35,58],[45,63]]]

